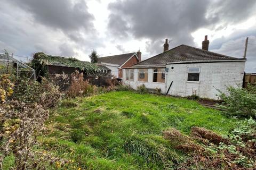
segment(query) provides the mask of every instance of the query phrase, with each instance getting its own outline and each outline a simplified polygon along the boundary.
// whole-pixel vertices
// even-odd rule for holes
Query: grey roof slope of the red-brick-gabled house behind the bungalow
[[[122,65],[134,54],[135,52],[127,53],[127,54],[112,55],[107,57],[100,57],[98,60],[98,63],[110,63],[110,64]]]

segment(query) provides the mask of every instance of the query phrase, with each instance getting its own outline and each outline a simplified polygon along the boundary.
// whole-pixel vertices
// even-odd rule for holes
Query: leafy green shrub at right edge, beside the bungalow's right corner
[[[219,105],[223,112],[229,116],[254,117],[256,109],[256,94],[253,88],[246,90],[243,88],[229,87],[228,95],[221,93],[219,96],[223,100]]]

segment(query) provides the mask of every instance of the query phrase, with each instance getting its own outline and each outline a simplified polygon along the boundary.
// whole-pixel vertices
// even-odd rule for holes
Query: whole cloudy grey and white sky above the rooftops
[[[241,58],[249,37],[246,72],[256,72],[255,0],[1,0],[0,51],[100,56],[142,52],[142,60],[187,44]]]

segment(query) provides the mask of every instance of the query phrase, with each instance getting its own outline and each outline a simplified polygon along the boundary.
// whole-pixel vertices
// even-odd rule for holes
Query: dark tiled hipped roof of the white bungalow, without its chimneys
[[[212,61],[212,60],[241,60],[241,58],[230,57],[218,53],[209,52],[200,48],[191,47],[188,45],[180,45],[164,53],[143,60],[133,66],[141,65],[165,65],[172,62],[185,61]],[[242,58],[243,60],[243,58]]]

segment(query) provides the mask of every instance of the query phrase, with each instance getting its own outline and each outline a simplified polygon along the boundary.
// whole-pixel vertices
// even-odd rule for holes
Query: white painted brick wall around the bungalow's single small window
[[[173,69],[171,69],[173,67]],[[188,82],[188,67],[200,67],[199,82]],[[228,86],[242,87],[245,62],[168,64],[167,88],[169,95],[219,99],[218,90],[226,92]]]

